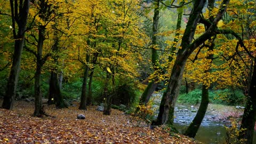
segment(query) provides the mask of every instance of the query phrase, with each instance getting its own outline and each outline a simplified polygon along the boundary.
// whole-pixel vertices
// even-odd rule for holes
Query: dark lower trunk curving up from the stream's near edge
[[[202,86],[202,98],[201,98],[201,103],[200,103],[199,109],[196,113],[195,118],[188,126],[184,135],[187,135],[188,137],[191,137],[191,138],[195,138],[196,133],[204,119],[209,101],[210,101],[209,100],[209,89],[207,88],[207,86],[203,85]]]

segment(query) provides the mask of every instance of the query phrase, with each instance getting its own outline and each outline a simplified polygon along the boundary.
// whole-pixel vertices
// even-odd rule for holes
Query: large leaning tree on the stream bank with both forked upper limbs
[[[226,0],[222,2],[220,10],[214,21],[209,26],[209,29],[207,29],[204,34],[193,41],[196,26],[201,19],[200,14],[202,13],[205,2],[206,1],[196,1],[193,4],[193,10],[189,16],[185,33],[182,37],[181,49],[179,49],[177,53],[171,76],[167,84],[167,89],[163,94],[163,98],[159,107],[159,113],[156,121],[153,122],[153,125],[173,125],[174,105],[178,98],[183,71],[189,55],[207,39],[220,33],[217,28],[217,22],[222,18],[223,13],[226,11],[227,4],[229,3],[229,1]]]

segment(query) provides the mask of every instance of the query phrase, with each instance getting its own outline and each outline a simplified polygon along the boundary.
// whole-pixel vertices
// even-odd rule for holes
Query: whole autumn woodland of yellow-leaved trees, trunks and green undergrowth
[[[250,0],[2,0],[2,108],[33,98],[33,115],[42,117],[43,98],[57,109],[72,101],[81,110],[103,105],[104,115],[125,105],[175,131],[178,100],[200,105],[184,133],[194,138],[209,102],[240,105],[237,139],[252,143],[255,7]],[[152,121],[146,117],[154,91],[163,97]]]

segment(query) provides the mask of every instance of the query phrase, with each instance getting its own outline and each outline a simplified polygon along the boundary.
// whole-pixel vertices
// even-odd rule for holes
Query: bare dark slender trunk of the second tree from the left
[[[42,115],[42,93],[40,89],[40,79],[41,79],[41,71],[43,66],[43,44],[44,44],[44,35],[45,35],[45,27],[39,26],[38,29],[38,43],[37,43],[37,55],[36,55],[36,73],[35,73],[35,110],[34,116]]]

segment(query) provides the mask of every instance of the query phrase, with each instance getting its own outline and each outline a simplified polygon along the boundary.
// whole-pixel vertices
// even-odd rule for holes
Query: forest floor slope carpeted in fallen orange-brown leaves
[[[2,102],[2,101],[1,101]],[[34,103],[15,102],[14,110],[0,109],[0,143],[196,143],[183,135],[171,136],[160,127],[132,127],[122,111],[102,115],[90,106],[55,109],[45,106],[52,117],[33,117]],[[76,119],[84,114],[85,119]]]

